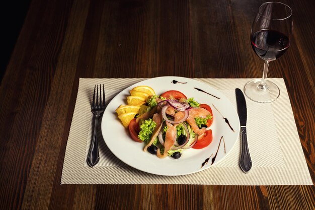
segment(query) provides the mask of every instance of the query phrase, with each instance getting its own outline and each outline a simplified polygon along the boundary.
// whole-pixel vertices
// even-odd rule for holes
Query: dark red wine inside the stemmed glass
[[[251,43],[255,53],[264,60],[279,58],[290,46],[290,41],[283,33],[264,29],[256,32],[251,37]]]

